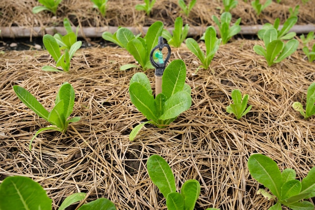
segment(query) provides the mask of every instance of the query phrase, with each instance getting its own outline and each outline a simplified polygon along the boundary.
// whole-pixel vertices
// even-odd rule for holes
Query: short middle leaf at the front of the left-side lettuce
[[[63,108],[64,108],[63,100],[61,100],[54,106],[54,108],[50,111],[48,115],[48,122],[50,122],[53,125],[56,125],[62,131],[65,129],[64,127],[65,118]]]

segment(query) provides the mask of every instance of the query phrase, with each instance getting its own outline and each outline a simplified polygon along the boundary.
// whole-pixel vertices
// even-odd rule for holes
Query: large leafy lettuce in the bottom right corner
[[[269,188],[269,194],[264,189],[259,189],[268,199],[276,199],[275,205],[269,210],[281,210],[285,205],[294,210],[314,210],[314,205],[308,201],[301,201],[315,196],[315,167],[309,170],[302,181],[296,180],[296,172],[287,168],[279,170],[277,163],[262,154],[251,155],[248,159],[248,169],[251,176]]]

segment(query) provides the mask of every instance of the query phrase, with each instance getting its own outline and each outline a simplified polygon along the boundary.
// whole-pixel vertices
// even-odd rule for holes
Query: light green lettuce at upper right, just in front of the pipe
[[[284,58],[295,52],[298,47],[298,41],[296,39],[291,39],[287,43],[278,40],[278,33],[274,28],[268,29],[264,33],[263,40],[266,49],[260,45],[255,45],[254,51],[264,56],[269,66],[281,62]]]

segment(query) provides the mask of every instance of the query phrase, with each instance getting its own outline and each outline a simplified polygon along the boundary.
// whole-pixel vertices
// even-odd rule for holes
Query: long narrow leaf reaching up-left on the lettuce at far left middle
[[[13,86],[14,92],[18,98],[30,109],[32,109],[38,116],[48,121],[49,112],[41,105],[36,98],[26,89],[20,86]]]

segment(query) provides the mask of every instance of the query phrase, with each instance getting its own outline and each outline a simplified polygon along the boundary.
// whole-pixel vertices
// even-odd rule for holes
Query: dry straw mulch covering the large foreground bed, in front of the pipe
[[[267,209],[273,202],[256,195],[261,186],[251,178],[247,160],[265,154],[281,170],[295,169],[298,179],[315,166],[315,118],[304,120],[291,108],[294,101],[305,104],[315,64],[304,60],[299,48],[268,67],[253,51],[257,42],[220,46],[211,69],[200,69],[197,76],[192,76],[199,64],[195,56],[184,46],[173,49],[170,60],[187,65],[192,106],[167,128],[146,126],[134,142],[128,134],[145,117],[128,93],[129,80],[140,69],[119,71],[134,62],[125,50],[81,49],[69,73],[41,71],[54,64],[46,51],[6,52],[0,56],[0,180],[31,177],[47,190],[54,209],[74,192],[87,192],[87,201],[109,198],[117,209],[166,209],[146,171],[147,158],[158,154],[170,164],[178,190],[188,179],[200,182],[196,209]],[[153,86],[153,70],[145,73]],[[26,107],[12,86],[26,88],[50,110],[66,81],[75,90],[72,116],[82,119],[70,123],[65,134],[41,133],[29,151],[35,131],[49,123]],[[225,111],[233,89],[249,94],[253,105],[240,120]]]

